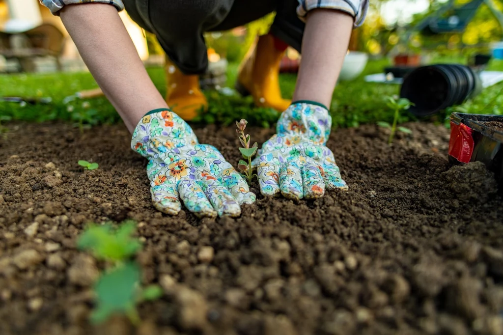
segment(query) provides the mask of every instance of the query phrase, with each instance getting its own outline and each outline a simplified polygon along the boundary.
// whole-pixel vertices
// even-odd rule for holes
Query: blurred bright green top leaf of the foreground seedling
[[[97,259],[108,261],[124,261],[135,255],[141,248],[141,243],[132,238],[136,229],[133,221],[128,221],[117,230],[107,223],[90,225],[77,240],[77,247],[90,250]]]

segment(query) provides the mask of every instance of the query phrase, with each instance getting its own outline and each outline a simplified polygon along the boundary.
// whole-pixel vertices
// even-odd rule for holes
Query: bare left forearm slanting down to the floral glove
[[[167,107],[113,6],[65,6],[61,20],[130,131],[148,111]]]

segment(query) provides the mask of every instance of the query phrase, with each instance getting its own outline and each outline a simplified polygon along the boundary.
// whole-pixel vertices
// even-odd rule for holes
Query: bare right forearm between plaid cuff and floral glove
[[[326,9],[309,12],[293,101],[312,100],[330,107],[352,28],[353,18],[342,12]]]

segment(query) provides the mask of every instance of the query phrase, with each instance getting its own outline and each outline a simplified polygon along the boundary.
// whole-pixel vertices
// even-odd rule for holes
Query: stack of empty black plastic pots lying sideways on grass
[[[400,97],[414,103],[410,113],[424,117],[462,104],[481,90],[479,76],[468,66],[436,64],[418,67],[406,74]]]

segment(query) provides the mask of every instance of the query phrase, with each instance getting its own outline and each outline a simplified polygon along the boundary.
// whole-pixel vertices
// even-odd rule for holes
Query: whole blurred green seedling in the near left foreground
[[[140,321],[136,305],[145,300],[155,300],[162,295],[157,285],[140,287],[141,271],[131,258],[141,249],[141,243],[132,234],[134,221],[126,221],[114,229],[110,223],[91,224],[77,241],[77,247],[87,250],[98,260],[106,261],[109,268],[102,273],[94,286],[96,308],[91,321],[100,323],[114,313],[125,314],[133,324]]]

